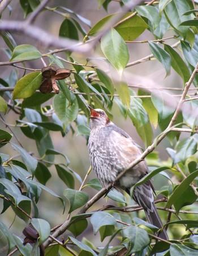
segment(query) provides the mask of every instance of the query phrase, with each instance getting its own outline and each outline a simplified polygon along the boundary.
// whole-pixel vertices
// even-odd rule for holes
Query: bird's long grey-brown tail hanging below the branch
[[[151,182],[147,181],[144,184],[135,187],[133,198],[141,207],[143,207],[149,223],[161,229],[163,224],[154,204]],[[169,240],[165,229],[162,229],[157,236],[164,240]]]

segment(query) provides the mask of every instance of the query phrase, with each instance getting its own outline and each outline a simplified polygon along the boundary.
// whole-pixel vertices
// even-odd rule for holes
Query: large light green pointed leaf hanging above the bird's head
[[[106,35],[101,38],[101,49],[109,60],[121,74],[129,59],[128,48],[119,33],[111,28]]]

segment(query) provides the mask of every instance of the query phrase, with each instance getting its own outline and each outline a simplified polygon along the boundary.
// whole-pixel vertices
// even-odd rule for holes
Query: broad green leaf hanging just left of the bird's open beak
[[[55,95],[53,106],[59,120],[63,123],[63,130],[65,131],[67,126],[78,116],[78,102],[75,99],[74,103],[69,105],[69,101],[64,97],[63,93],[60,92],[58,95]]]

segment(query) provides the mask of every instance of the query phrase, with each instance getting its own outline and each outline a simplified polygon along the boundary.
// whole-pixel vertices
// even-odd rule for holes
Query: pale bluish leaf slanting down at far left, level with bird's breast
[[[14,150],[20,153],[24,164],[31,170],[32,173],[35,173],[38,161],[33,156],[29,155],[29,153],[25,151],[24,148],[22,148],[21,146],[14,143],[11,143],[11,145]]]

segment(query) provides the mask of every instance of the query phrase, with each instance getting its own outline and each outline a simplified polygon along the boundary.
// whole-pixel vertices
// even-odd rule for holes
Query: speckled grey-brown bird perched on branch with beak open
[[[115,189],[130,194],[131,187],[149,172],[145,160],[128,169],[132,161],[141,155],[141,148],[130,135],[109,120],[104,110],[91,106],[89,109],[91,133],[88,152],[91,167],[103,187],[114,184]],[[128,171],[115,182],[118,174],[126,169]],[[148,180],[135,187],[132,198],[143,207],[149,223],[161,229],[163,224],[154,204],[153,193],[154,187]],[[157,236],[169,240],[165,229],[161,229]]]

